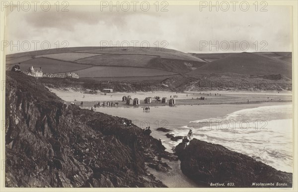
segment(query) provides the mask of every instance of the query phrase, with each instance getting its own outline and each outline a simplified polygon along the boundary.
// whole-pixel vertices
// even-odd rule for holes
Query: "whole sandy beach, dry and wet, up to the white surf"
[[[279,106],[292,104],[291,92],[137,92],[137,93],[108,93],[103,94],[86,94],[83,92],[77,92],[74,90],[51,90],[56,93],[60,98],[67,101],[67,103],[74,102],[79,105],[83,101],[83,108],[90,109],[95,102],[113,101],[119,102],[119,107],[97,107],[95,112],[102,112],[113,116],[123,117],[132,120],[132,122],[141,127],[149,127],[152,130],[151,135],[154,138],[160,138],[162,144],[166,147],[168,152],[173,152],[173,147],[179,143],[178,141],[172,141],[165,136],[165,132],[157,131],[156,128],[165,127],[170,129],[169,133],[175,133],[176,136],[180,132],[187,132],[186,125],[191,121],[204,120],[209,118],[220,118],[227,114],[237,112],[245,109],[253,109],[262,106]],[[211,96],[210,96],[211,93]],[[221,94],[221,96],[215,96],[215,93]],[[207,95],[209,94],[209,96]],[[122,102],[122,96],[130,95],[132,98],[139,98],[141,105],[128,106],[125,102]],[[144,112],[142,107],[148,106],[144,104],[143,99],[147,96],[159,96],[167,97],[177,95],[176,106],[169,107],[168,104],[151,103],[150,112]],[[207,96],[206,96],[207,95]],[[207,100],[197,100],[197,98],[206,96]],[[83,98],[84,97],[84,98]],[[247,103],[249,99],[249,103]],[[272,99],[272,100],[271,100]],[[281,99],[281,101],[279,100]],[[292,117],[282,117],[283,119],[289,119]],[[186,126],[187,127],[187,126]],[[185,135],[182,135],[185,136]],[[166,160],[165,160],[166,161]],[[153,169],[149,169],[150,173],[163,181],[168,187],[198,187],[197,184],[190,181],[180,170],[180,161],[168,162],[173,168],[168,173],[158,172]],[[179,168],[179,169],[178,169]],[[177,182],[179,181],[179,182]]]

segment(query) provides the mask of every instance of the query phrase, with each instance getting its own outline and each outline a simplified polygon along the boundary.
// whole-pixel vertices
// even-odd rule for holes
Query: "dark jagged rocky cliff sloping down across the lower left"
[[[166,187],[146,170],[175,157],[129,120],[67,106],[16,72],[5,91],[6,187]]]

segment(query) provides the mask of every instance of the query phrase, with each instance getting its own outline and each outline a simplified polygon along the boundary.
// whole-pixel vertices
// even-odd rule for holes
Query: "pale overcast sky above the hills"
[[[292,51],[291,7],[267,6],[263,12],[255,11],[252,6],[247,11],[241,11],[239,6],[235,8],[235,11],[231,7],[228,11],[215,11],[215,8],[209,11],[207,7],[200,11],[199,6],[184,5],[167,6],[168,11],[164,12],[156,11],[155,7],[149,11],[131,8],[127,12],[105,11],[108,8],[100,11],[100,6],[68,6],[69,11],[56,11],[56,7],[50,11],[14,9],[6,14],[5,39],[14,44],[29,41],[31,51],[34,50],[32,41],[48,41],[51,48],[56,48],[57,41],[60,47],[63,47],[62,41],[67,41],[68,47],[100,46],[104,41],[112,44],[128,41],[131,46],[132,41],[139,41],[137,46],[148,41],[155,47],[154,42],[158,41],[159,47],[187,53],[243,52],[247,45],[247,52]],[[167,43],[161,44],[162,41]],[[217,46],[210,47],[210,43],[216,45],[217,41],[218,51]],[[41,43],[36,45],[40,50]],[[20,47],[19,52],[25,49]],[[6,49],[6,54],[17,52],[16,47]]]

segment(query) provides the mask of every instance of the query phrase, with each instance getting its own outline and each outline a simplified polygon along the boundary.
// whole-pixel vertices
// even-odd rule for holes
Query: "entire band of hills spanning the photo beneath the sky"
[[[292,53],[183,53],[172,49],[74,47],[6,56],[6,70],[21,63],[45,73],[75,72],[97,80],[163,80],[179,75],[237,73],[282,74],[292,78]]]

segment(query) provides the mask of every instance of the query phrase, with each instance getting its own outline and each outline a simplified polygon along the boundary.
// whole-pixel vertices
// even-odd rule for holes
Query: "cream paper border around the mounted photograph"
[[[1,3],[2,0],[0,0]],[[10,3],[15,2],[17,0],[7,0]],[[24,0],[20,0],[24,1]],[[42,2],[43,0],[40,0]],[[54,5],[57,0],[48,0],[51,4]],[[62,2],[63,0],[59,0]],[[99,4],[98,0],[66,0],[70,5],[95,5]],[[110,0],[107,0],[110,2]],[[115,0],[113,0],[115,1]],[[117,0],[120,3],[124,0]],[[127,0],[131,1],[131,0]],[[139,0],[140,2],[142,0]],[[156,2],[156,0],[147,0],[150,4]],[[165,0],[169,5],[199,5],[199,0]],[[206,0],[208,2],[214,1],[224,1],[224,0]],[[226,0],[230,2],[231,0]],[[241,2],[243,0],[238,0]],[[253,4],[256,0],[246,0],[249,4]],[[31,0],[28,0],[31,2]],[[260,1],[259,1],[260,2]],[[243,192],[297,192],[298,191],[298,1],[297,0],[266,0],[268,5],[290,5],[293,9],[292,14],[292,38],[293,38],[293,50],[292,50],[292,67],[293,67],[293,133],[294,133],[294,171],[293,171],[293,188],[289,189],[279,189],[279,188],[5,188],[5,169],[3,169],[3,160],[5,159],[5,128],[2,126],[2,121],[5,120],[5,88],[3,87],[3,82],[5,81],[5,53],[0,51],[0,192],[198,192],[198,191],[207,191],[207,192],[230,192],[230,191],[243,191]],[[33,6],[33,5],[32,5]],[[5,40],[4,28],[5,28],[5,10],[0,10],[0,41]],[[2,90],[3,89],[3,90]]]

